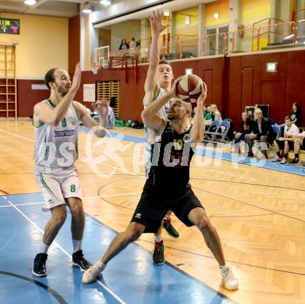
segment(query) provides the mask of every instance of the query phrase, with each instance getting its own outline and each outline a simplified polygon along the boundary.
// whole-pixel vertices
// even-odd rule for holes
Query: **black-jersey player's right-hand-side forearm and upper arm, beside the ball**
[[[207,98],[207,85],[202,83],[201,94],[197,99],[197,108],[191,129],[191,142],[198,144],[202,142],[204,136],[204,117],[203,117],[203,104]]]

